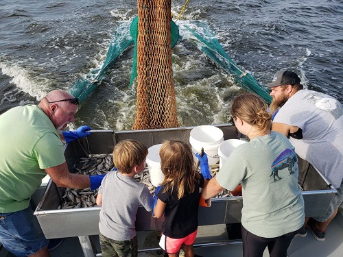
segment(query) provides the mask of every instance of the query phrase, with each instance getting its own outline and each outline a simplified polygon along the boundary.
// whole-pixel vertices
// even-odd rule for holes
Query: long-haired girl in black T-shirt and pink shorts
[[[161,170],[165,176],[158,190],[154,217],[165,215],[160,246],[168,256],[194,256],[193,243],[198,232],[200,187],[207,180],[194,167],[193,153],[187,143],[167,140],[160,149]]]

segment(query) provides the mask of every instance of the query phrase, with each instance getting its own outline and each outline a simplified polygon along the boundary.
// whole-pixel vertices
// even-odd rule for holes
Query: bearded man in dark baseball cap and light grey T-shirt
[[[307,235],[308,221],[314,238],[324,241],[325,229],[343,202],[343,105],[329,95],[303,89],[293,71],[278,71],[266,86],[273,98],[270,110],[279,108],[272,130],[287,136],[296,154],[316,167],[338,191],[327,213],[306,218],[298,234]]]

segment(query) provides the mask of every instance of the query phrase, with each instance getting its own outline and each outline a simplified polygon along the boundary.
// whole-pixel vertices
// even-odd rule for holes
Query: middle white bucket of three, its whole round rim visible
[[[224,133],[220,128],[213,125],[201,125],[194,127],[189,136],[193,154],[200,153],[204,148],[204,152],[209,160],[209,165],[219,162],[218,147],[224,141]],[[194,157],[194,160],[198,158]]]

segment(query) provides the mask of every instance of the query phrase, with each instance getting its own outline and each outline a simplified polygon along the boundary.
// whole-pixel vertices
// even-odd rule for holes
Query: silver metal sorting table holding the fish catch
[[[240,138],[241,134],[229,124],[215,125],[224,132],[224,140]],[[163,143],[163,140],[183,140],[189,143],[189,133],[193,127],[177,127],[159,130],[134,130],[115,132],[113,130],[93,130],[87,138],[69,143],[64,151],[69,171],[73,171],[80,158],[88,154],[111,154],[117,142],[131,138],[139,140],[147,147]],[[323,215],[333,195],[337,192],[324,176],[308,162],[299,158],[299,184],[303,188],[305,216]],[[96,256],[91,236],[99,233],[99,212],[101,207],[58,209],[62,203],[65,188],[59,188],[49,181],[43,198],[34,212],[47,238],[78,236],[84,256]],[[239,223],[241,220],[242,197],[212,198],[210,208],[199,208],[199,225]],[[153,218],[143,206],[137,212],[137,231],[161,230],[163,217]],[[213,243],[211,243],[213,244]],[[218,242],[222,245],[223,242]],[[198,245],[201,246],[201,245]],[[144,249],[141,252],[152,252]],[[156,249],[155,249],[156,251]],[[99,256],[99,255],[97,255]]]

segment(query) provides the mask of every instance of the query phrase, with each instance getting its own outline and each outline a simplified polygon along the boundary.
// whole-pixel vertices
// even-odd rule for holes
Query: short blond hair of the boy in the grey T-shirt
[[[113,162],[120,173],[130,174],[146,157],[147,147],[137,140],[121,140],[113,149]]]

